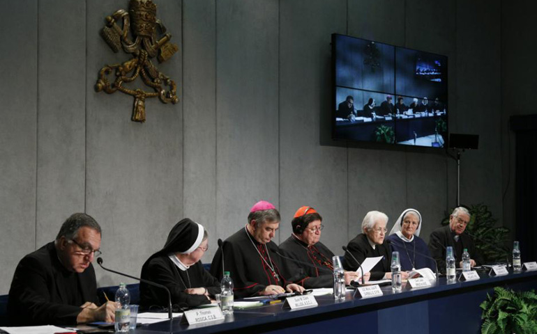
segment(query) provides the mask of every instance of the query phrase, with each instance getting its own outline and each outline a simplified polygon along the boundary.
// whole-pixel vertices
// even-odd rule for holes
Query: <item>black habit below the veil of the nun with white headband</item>
[[[205,287],[209,296],[214,298],[220,293],[220,283],[206,271],[201,262],[196,262],[186,271],[179,269],[167,255],[149,259],[142,267],[142,278],[159,283],[172,294],[172,305],[179,308],[195,308],[211,301],[202,294],[187,294],[186,289]],[[142,310],[168,307],[168,294],[165,289],[140,283],[140,308]]]

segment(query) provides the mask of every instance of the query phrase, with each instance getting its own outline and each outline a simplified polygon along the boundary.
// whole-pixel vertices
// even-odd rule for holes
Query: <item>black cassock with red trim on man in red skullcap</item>
[[[298,270],[302,270],[303,276],[297,283],[306,289],[317,287],[333,286],[333,263],[331,252],[322,242],[317,242],[313,246],[305,244],[300,239],[294,237],[287,238],[280,244],[280,250],[283,255],[291,257],[294,260],[310,264],[295,262]]]

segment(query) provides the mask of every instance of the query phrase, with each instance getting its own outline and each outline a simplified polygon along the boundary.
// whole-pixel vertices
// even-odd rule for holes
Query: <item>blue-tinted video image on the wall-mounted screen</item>
[[[333,34],[333,138],[443,148],[447,57]]]

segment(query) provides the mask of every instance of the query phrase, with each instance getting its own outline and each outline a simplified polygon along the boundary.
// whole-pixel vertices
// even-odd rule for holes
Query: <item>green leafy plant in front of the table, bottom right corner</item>
[[[494,287],[494,294],[479,305],[482,334],[537,333],[537,295],[534,290],[514,292]]]

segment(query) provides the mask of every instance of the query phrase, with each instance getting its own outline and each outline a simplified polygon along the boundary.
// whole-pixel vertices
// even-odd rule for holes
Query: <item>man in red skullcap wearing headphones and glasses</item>
[[[283,255],[294,260],[305,278],[298,284],[306,289],[333,287],[334,253],[319,241],[321,239],[322,216],[312,207],[300,207],[291,222],[291,237],[280,244]],[[356,271],[345,271],[345,284],[358,278]]]

